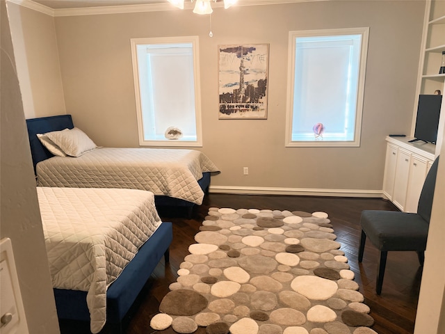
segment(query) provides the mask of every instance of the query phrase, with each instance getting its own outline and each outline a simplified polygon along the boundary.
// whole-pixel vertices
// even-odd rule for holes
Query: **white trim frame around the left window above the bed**
[[[134,93],[136,99],[136,116],[138,121],[138,138],[140,146],[168,146],[168,147],[202,147],[202,119],[201,119],[201,92],[200,92],[200,58],[199,58],[199,37],[181,36],[181,37],[156,37],[156,38],[131,38],[131,60],[133,63],[133,81]],[[144,138],[143,110],[140,99],[139,86],[139,66],[137,45],[144,44],[175,44],[191,43],[193,45],[193,79],[195,85],[195,121],[196,121],[196,141],[163,140],[147,141]]]

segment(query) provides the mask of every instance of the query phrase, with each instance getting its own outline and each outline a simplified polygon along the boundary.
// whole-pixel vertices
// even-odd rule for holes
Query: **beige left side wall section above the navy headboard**
[[[54,17],[8,3],[25,118],[65,113]]]

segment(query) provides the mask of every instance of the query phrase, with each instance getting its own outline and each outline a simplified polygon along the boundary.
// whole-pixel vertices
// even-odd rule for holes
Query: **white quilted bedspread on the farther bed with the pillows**
[[[218,168],[197,150],[99,148],[81,157],[52,157],[37,164],[39,186],[130,188],[202,204],[197,180]]]

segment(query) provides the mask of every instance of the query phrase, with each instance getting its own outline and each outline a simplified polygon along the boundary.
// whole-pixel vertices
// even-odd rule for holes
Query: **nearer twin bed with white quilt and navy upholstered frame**
[[[37,187],[60,319],[120,328],[172,241],[153,193],[135,189]]]

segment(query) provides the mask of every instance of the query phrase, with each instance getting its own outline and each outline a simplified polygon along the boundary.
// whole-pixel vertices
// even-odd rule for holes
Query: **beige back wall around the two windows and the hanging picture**
[[[410,133],[423,1],[314,1],[55,17],[67,113],[98,145],[136,147],[130,38],[199,35],[204,151],[222,173],[212,189],[303,189],[379,196],[385,136]],[[369,26],[362,144],[285,148],[288,34]],[[218,120],[218,45],[269,43],[268,119]],[[322,78],[321,78],[322,79]],[[321,97],[322,98],[322,97]],[[243,167],[250,175],[243,175]]]

